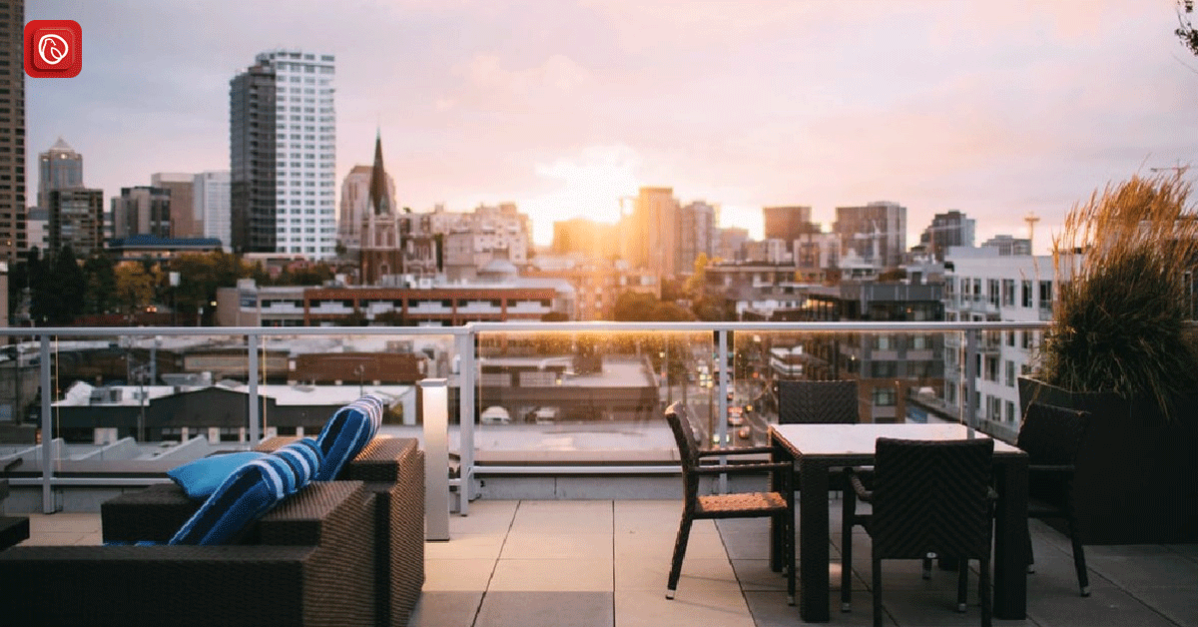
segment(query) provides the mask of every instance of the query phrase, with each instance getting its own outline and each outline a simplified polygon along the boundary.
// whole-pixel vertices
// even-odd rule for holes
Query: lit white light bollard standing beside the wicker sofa
[[[424,379],[424,537],[449,539],[449,388],[444,379]]]

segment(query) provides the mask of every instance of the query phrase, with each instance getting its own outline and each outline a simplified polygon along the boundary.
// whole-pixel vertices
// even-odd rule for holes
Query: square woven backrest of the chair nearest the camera
[[[988,555],[993,454],[990,438],[878,438],[870,522],[875,555]]]

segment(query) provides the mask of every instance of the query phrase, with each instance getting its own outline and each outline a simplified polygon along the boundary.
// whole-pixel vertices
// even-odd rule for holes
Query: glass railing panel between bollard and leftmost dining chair
[[[698,423],[713,421],[709,330],[489,331],[477,339],[480,456],[651,459],[674,448],[664,421],[670,403],[685,403]]]

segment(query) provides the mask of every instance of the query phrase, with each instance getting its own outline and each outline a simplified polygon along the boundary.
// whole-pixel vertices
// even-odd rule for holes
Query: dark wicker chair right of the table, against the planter
[[[1031,403],[1019,426],[1015,445],[1028,453],[1028,518],[1063,518],[1073,543],[1073,568],[1077,587],[1083,597],[1090,596],[1090,579],[1085,572],[1085,549],[1077,533],[1073,513],[1073,463],[1085,436],[1090,414],[1071,409]],[[1035,562],[1031,554],[1031,533],[1027,536],[1028,566]]]

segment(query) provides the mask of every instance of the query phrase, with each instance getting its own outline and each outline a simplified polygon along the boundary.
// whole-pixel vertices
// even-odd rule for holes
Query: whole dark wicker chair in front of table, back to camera
[[[922,560],[930,553],[961,560],[957,611],[966,610],[968,560],[980,562],[978,592],[982,627],[991,625],[990,547],[996,494],[991,488],[994,440],[896,440],[878,438],[873,489],[866,490],[854,472],[845,490],[845,529],[865,527],[872,539],[873,625],[882,626],[882,560]],[[872,513],[858,514],[857,499]],[[841,549],[841,609],[852,601],[848,573],[853,535]]]

